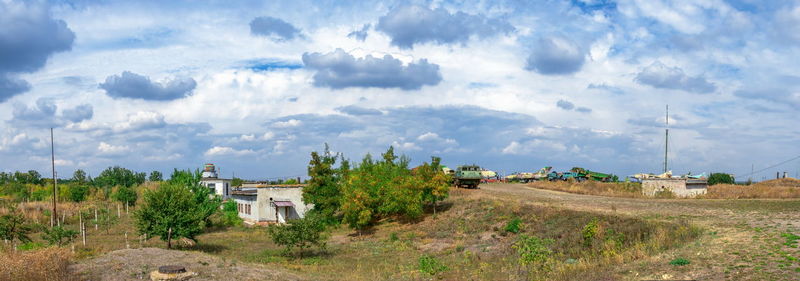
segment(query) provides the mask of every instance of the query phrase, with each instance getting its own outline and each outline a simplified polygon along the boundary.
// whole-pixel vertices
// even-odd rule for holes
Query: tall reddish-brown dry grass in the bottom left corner
[[[0,253],[0,280],[80,280],[68,269],[71,259],[62,248]]]

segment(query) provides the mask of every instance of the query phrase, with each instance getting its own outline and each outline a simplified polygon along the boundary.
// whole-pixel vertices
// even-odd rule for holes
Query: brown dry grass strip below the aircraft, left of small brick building
[[[642,195],[642,185],[633,182],[597,182],[597,181],[540,181],[528,184],[530,187],[539,189],[549,189],[564,191],[577,194],[625,197],[625,198],[644,198]]]

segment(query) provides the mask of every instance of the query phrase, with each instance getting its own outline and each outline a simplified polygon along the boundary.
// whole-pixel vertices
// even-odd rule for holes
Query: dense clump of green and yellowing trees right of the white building
[[[418,219],[426,205],[435,211],[436,203],[447,198],[449,184],[440,158],[414,169],[409,162],[389,147],[380,159],[367,154],[351,168],[326,145],[322,154],[311,153],[303,201],[314,204],[312,212],[326,224],[346,223],[359,231],[383,218]]]

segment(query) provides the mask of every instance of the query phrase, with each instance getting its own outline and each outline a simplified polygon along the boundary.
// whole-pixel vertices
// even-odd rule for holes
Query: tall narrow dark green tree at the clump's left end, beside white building
[[[331,154],[327,144],[322,155],[311,152],[311,161],[308,163],[310,179],[303,188],[303,202],[314,204],[312,212],[320,214],[326,224],[337,221],[336,213],[342,200],[340,180],[343,171],[334,167],[336,158],[337,155]]]

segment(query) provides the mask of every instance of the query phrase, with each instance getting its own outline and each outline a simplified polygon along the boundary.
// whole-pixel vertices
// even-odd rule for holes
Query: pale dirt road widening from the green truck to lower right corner
[[[800,200],[636,199],[572,194],[523,184],[487,184],[471,196],[498,197],[650,220],[689,220],[705,230],[696,242],[621,265],[623,279],[800,280]],[[691,264],[669,265],[675,258]]]

